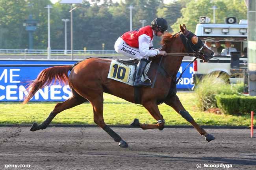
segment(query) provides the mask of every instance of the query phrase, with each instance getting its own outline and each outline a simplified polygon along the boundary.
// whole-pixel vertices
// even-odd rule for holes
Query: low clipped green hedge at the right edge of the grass
[[[217,107],[226,114],[256,111],[256,97],[241,95],[216,95]]]

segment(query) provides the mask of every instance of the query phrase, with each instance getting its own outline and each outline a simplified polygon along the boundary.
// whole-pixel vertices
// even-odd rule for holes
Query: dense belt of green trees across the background
[[[100,4],[100,2],[103,2]],[[48,18],[45,7],[50,0],[0,0],[0,48],[28,48],[28,32],[22,23],[30,14],[39,21],[40,26],[33,33],[34,49],[47,49]],[[28,4],[33,4],[28,7]],[[141,27],[139,20],[147,20],[145,25],[155,17],[165,18],[173,30],[178,31],[179,24],[185,23],[188,29],[195,31],[200,16],[213,18],[211,7],[217,6],[216,21],[223,23],[224,17],[236,16],[245,19],[247,8],[243,0],[174,0],[163,4],[163,0],[125,0],[113,3],[112,0],[84,1],[73,11],[74,49],[113,50],[115,41],[126,31],[130,31],[130,11],[133,5],[133,28]],[[70,5],[56,3],[50,9],[51,48],[64,49],[64,22],[70,19]],[[178,19],[177,19],[178,18]],[[67,45],[70,49],[70,22],[67,26]],[[154,46],[160,46],[160,37],[154,38]]]

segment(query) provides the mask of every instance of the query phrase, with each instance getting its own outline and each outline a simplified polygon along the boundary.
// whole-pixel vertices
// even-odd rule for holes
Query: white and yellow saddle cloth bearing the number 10
[[[151,65],[150,61],[145,70],[144,73],[141,77],[141,81],[150,81],[151,84],[151,80],[149,79],[149,77],[147,76],[147,72],[150,68]],[[123,82],[125,84],[129,84],[130,86],[134,85],[134,79],[135,79],[135,71],[137,70],[137,66],[134,64],[127,64],[125,62],[121,62],[119,60],[111,60],[111,64],[110,64],[110,68],[109,68],[109,72],[108,72],[108,78],[109,79],[113,79],[113,80],[117,80],[119,82]]]

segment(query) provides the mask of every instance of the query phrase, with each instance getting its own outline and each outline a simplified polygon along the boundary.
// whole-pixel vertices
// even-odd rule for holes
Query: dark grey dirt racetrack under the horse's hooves
[[[201,170],[227,169],[217,164],[256,169],[256,139],[249,129],[206,129],[216,138],[207,143],[193,128],[112,128],[128,148],[98,127],[29,129],[0,127],[0,170],[197,170],[197,164]]]

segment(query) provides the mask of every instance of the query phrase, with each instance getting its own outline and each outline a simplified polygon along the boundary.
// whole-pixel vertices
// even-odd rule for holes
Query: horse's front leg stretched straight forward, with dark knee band
[[[177,95],[174,95],[173,97],[167,99],[165,101],[165,104],[171,106],[176,112],[178,112],[184,119],[186,119],[188,122],[190,122],[194,128],[200,133],[200,135],[204,135],[207,142],[210,142],[211,140],[214,140],[215,138],[213,135],[205,132],[201,126],[199,126],[193,117],[185,110],[185,108],[182,106],[182,103],[180,102],[180,99]]]

